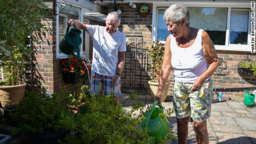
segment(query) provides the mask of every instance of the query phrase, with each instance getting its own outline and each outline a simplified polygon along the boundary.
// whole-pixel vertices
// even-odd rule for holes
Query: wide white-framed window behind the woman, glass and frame
[[[195,6],[194,4],[193,6],[190,5],[192,4],[188,4],[190,27],[204,29],[208,32],[216,49],[250,51],[250,9],[247,9],[247,6],[245,8],[239,8],[242,6],[232,8],[228,6],[229,4],[227,7],[207,7],[207,4],[203,4],[203,7],[197,7],[196,4]],[[230,4],[230,6],[233,5]],[[155,39],[165,41],[170,34],[163,19],[165,9],[168,7],[155,6],[155,8],[156,22],[154,23],[153,19],[153,27],[155,25],[156,29],[155,32],[153,29],[155,36],[152,36],[152,41]]]

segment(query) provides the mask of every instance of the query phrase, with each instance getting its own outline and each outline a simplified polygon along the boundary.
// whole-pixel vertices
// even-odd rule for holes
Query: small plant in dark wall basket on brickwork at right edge
[[[256,63],[250,59],[241,61],[238,64],[238,73],[242,76],[256,76]]]

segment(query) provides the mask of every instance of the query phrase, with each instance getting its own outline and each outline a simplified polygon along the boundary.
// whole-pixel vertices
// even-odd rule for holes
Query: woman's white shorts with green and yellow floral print
[[[203,122],[210,117],[213,100],[213,84],[205,81],[199,91],[192,92],[193,83],[174,83],[174,110],[176,118],[190,116],[193,121]]]

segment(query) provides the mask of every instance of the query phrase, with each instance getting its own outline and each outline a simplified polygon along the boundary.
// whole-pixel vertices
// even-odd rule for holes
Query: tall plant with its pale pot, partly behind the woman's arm
[[[151,76],[152,80],[149,81],[149,86],[150,86],[150,93],[153,98],[155,98],[156,93],[157,93],[157,88],[159,86],[159,77],[160,77],[160,71],[161,67],[164,61],[164,49],[165,49],[165,44],[161,43],[159,40],[153,42],[151,46],[148,48],[147,54],[149,54],[149,57],[151,58]],[[163,95],[161,98],[161,101],[164,102],[167,97],[168,93],[168,88],[169,88],[170,83],[166,82],[165,83],[165,88],[163,91]]]

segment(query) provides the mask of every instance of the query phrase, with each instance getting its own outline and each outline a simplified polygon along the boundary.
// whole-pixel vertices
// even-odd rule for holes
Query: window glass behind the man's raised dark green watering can
[[[62,5],[64,6],[65,4],[62,4]],[[59,43],[60,43],[61,39],[63,38],[64,34],[66,33],[67,20],[70,18],[80,20],[80,8],[73,7],[73,6],[72,7],[67,6],[60,13],[59,19],[58,19]],[[58,49],[58,51],[59,51],[59,53],[62,53],[60,49]]]

